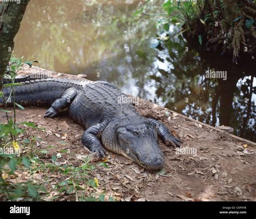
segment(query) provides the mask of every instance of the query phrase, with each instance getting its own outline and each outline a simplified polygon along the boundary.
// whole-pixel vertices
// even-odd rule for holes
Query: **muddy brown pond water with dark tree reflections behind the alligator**
[[[163,12],[161,2],[146,11]],[[161,15],[133,16],[141,7],[133,0],[30,1],[14,53],[42,68],[109,81],[207,124],[232,126],[255,142],[256,66],[232,66],[174,37],[172,27],[170,40],[151,48]],[[207,70],[222,78],[207,78]]]

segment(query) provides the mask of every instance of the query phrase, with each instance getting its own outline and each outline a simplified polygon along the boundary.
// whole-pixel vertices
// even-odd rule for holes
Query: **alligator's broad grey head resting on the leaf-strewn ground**
[[[157,129],[145,118],[137,119],[133,123],[108,125],[102,135],[104,146],[146,169],[163,168],[164,154],[157,143]]]

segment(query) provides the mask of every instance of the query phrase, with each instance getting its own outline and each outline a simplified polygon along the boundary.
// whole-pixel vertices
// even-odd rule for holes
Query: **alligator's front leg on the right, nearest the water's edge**
[[[167,146],[171,145],[174,147],[180,147],[179,143],[182,143],[181,140],[175,138],[163,123],[152,118],[148,118],[147,120],[150,121],[151,124],[156,126],[158,135],[160,136],[161,139],[163,139],[164,143]]]

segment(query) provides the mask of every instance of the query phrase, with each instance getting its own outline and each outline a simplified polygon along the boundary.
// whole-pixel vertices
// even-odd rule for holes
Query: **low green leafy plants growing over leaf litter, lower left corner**
[[[49,154],[49,151],[38,149],[37,143],[42,142],[42,139],[31,135],[35,129],[42,133],[45,132],[45,129],[32,122],[16,122],[16,107],[21,110],[24,107],[15,103],[14,86],[17,85],[15,77],[23,68],[24,63],[32,65],[32,62],[23,62],[22,58],[11,58],[5,74],[8,83],[3,85],[3,87],[10,87],[11,94],[5,96],[1,92],[3,100],[6,103],[11,101],[14,103],[14,107],[12,111],[0,109],[6,116],[6,123],[0,124],[0,199],[31,201],[45,200],[47,196],[47,200],[56,200],[63,194],[75,194],[77,201],[113,201],[111,196],[105,197],[104,194],[96,194],[99,183],[97,178],[89,176],[95,169],[95,166],[90,164],[89,157],[83,159],[83,164],[77,167],[60,164],[58,162],[61,157],[60,153],[53,154],[50,162],[45,162],[42,157]],[[68,150],[61,152],[68,153]],[[99,165],[107,168],[105,163]],[[37,174],[44,179],[36,179]],[[52,190],[46,189],[49,174],[61,175],[65,180],[52,186]],[[87,195],[88,187],[92,188],[89,195]]]

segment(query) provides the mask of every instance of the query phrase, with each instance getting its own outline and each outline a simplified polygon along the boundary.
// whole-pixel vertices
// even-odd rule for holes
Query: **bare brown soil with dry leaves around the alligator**
[[[165,168],[152,172],[123,156],[108,152],[104,162],[109,168],[97,166],[102,161],[91,161],[91,164],[96,165],[91,173],[92,178],[98,179],[99,189],[104,190],[105,194],[126,201],[256,201],[254,145],[245,145],[226,132],[202,126],[144,100],[140,100],[136,108],[141,115],[158,119],[167,125],[174,135],[184,141],[182,147],[193,149],[194,152],[196,150],[196,155],[177,154],[176,149],[165,146],[158,139],[165,154]],[[54,146],[47,149],[49,154],[41,155],[40,158],[45,163],[51,163],[53,154],[69,149],[70,153],[62,153],[59,163],[80,165],[83,156],[89,154],[80,142],[84,129],[68,115],[45,119],[45,111],[46,108],[18,110],[17,122],[33,122],[45,128],[45,132],[26,128],[31,132],[30,135],[43,139],[37,145],[38,150]],[[167,115],[166,112],[170,114]],[[1,122],[3,121],[1,114]],[[38,182],[45,180],[44,174],[48,173],[38,173]],[[64,178],[62,175],[49,176],[46,189],[51,190],[51,185]],[[62,194],[57,200],[76,200],[76,195]]]

